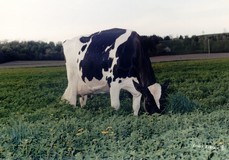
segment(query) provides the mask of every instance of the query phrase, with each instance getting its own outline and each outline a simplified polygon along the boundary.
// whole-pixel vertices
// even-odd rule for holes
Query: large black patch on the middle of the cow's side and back
[[[110,29],[97,32],[89,37],[81,37],[80,41],[86,43],[90,41],[84,59],[80,62],[82,69],[82,79],[87,78],[91,81],[93,78],[101,80],[103,77],[102,70],[108,71],[112,65],[113,59],[109,58],[109,52],[114,48],[116,39],[124,34],[124,29]],[[108,78],[108,83],[111,78]]]

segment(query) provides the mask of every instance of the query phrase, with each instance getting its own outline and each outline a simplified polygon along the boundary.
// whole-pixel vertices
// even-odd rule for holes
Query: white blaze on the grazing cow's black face
[[[153,95],[157,107],[160,109],[160,98],[161,98],[161,85],[155,83],[148,87],[150,93]]]

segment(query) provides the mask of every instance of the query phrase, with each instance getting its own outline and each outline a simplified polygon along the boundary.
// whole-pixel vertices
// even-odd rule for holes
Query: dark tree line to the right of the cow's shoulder
[[[193,53],[229,53],[229,33],[201,36],[141,36],[143,48],[149,56]]]

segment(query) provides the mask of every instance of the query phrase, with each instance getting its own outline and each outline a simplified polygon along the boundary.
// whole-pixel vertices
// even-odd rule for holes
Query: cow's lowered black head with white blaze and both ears
[[[162,85],[155,83],[149,87],[144,87],[135,81],[133,83],[136,90],[143,95],[146,112],[153,114],[161,113],[164,110],[169,81],[164,82]]]

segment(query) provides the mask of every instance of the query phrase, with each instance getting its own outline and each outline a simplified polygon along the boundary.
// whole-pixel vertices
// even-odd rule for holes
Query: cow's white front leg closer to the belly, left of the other
[[[120,108],[119,94],[120,94],[119,85],[117,85],[116,83],[111,83],[111,87],[110,87],[111,107],[113,107],[115,110],[118,110]]]

